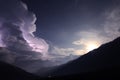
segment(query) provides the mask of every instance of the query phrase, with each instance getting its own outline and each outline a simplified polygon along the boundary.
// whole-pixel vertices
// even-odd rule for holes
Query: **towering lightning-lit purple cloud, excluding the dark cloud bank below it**
[[[0,46],[9,49],[32,50],[46,57],[49,45],[36,38],[36,16],[18,0],[0,0]]]

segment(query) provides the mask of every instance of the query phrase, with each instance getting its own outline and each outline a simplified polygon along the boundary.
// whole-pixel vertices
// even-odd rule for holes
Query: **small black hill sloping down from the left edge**
[[[35,80],[37,76],[0,61],[0,80]]]

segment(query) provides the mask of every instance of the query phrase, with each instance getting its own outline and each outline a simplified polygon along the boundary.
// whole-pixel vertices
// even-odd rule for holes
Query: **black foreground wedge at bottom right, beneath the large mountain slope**
[[[105,68],[99,71],[73,74],[66,76],[49,76],[48,78],[42,78],[37,80],[119,80],[120,79],[120,67]]]

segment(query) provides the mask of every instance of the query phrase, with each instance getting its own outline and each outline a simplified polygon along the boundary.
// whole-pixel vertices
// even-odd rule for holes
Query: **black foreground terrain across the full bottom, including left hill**
[[[4,66],[3,66],[4,65]],[[99,71],[72,74],[72,75],[62,75],[62,76],[48,76],[41,78],[29,74],[19,68],[9,66],[8,64],[0,62],[0,80],[115,80],[120,79],[120,67],[111,67],[101,69]]]

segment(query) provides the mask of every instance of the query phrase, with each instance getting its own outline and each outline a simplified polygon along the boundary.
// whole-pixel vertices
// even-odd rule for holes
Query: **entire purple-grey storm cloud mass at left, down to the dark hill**
[[[35,14],[28,11],[21,1],[0,0],[1,61],[30,72],[48,65],[49,45],[33,34],[36,31],[35,21]]]

